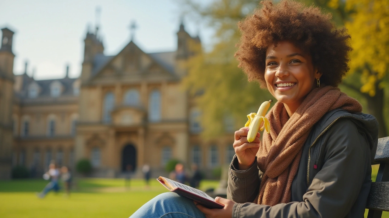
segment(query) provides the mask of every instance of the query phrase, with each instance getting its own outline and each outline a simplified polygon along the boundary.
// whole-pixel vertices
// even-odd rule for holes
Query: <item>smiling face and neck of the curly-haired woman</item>
[[[315,78],[321,76],[311,56],[287,41],[268,47],[265,66],[267,88],[275,99],[284,103],[289,116],[316,87]]]

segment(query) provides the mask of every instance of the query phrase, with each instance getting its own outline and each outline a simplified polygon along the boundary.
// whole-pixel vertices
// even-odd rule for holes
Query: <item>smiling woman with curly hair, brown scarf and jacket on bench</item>
[[[363,217],[378,123],[336,88],[349,70],[350,36],[318,8],[262,4],[239,24],[235,56],[277,99],[270,133],[249,143],[247,127],[235,132],[228,199],[216,199],[223,209],[168,193],[133,217]]]

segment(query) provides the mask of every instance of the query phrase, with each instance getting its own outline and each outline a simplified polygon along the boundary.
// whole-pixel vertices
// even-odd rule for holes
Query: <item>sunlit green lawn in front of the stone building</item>
[[[373,166],[373,178],[378,168]],[[374,179],[375,180],[375,179]],[[131,180],[130,188],[124,188],[123,179],[80,179],[70,197],[50,193],[38,199],[46,185],[45,180],[0,181],[1,218],[126,218],[145,202],[167,190],[156,180],[146,188],[142,180]],[[206,180],[200,189],[217,187],[218,181]],[[366,217],[367,213],[365,214]],[[383,218],[389,218],[384,212]]]

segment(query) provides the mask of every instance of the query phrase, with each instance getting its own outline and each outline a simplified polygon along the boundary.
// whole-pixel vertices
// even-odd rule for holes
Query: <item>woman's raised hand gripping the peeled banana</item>
[[[239,169],[238,170],[247,170],[250,168],[252,163],[255,161],[255,156],[259,149],[259,137],[260,133],[257,133],[256,138],[253,142],[247,141],[247,133],[249,132],[249,127],[240,128],[240,130],[235,131],[235,141],[234,149],[235,154],[237,154]]]

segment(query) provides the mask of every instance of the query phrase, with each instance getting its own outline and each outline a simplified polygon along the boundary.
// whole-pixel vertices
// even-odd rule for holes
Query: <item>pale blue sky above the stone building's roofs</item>
[[[15,32],[14,74],[24,73],[28,61],[27,74],[35,69],[35,80],[63,78],[67,64],[69,77],[78,77],[88,25],[94,31],[96,22],[105,55],[117,54],[130,42],[132,21],[137,25],[134,42],[146,53],[176,50],[181,17],[189,34],[200,35],[203,47],[212,38],[212,29],[183,14],[180,0],[12,0],[1,1],[0,8],[0,28]]]

